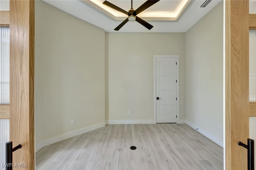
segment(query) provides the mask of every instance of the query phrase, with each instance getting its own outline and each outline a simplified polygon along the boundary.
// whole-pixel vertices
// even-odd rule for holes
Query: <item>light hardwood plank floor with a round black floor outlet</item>
[[[36,170],[223,170],[223,148],[186,124],[106,125],[42,148]]]

